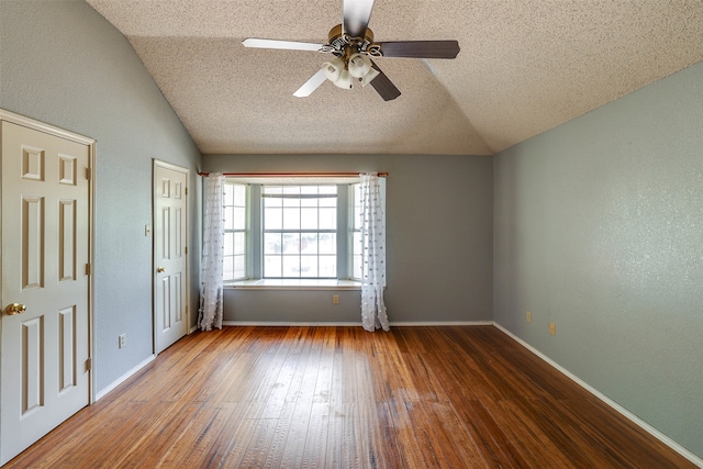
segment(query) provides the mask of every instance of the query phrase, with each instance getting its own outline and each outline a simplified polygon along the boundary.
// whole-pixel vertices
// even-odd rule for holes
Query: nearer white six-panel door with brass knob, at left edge
[[[90,403],[90,152],[2,122],[0,465]]]

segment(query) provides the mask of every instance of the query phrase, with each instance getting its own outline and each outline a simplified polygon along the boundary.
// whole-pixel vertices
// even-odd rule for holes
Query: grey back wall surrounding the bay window
[[[207,171],[389,171],[386,305],[391,322],[492,317],[488,156],[204,155]],[[360,322],[360,292],[225,291],[225,321]],[[291,309],[290,304],[301,308]]]

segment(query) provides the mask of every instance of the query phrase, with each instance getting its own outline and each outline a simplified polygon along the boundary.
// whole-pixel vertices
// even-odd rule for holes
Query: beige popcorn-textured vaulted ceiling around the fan
[[[458,40],[454,60],[380,58],[401,90],[323,83],[342,0],[88,0],[130,40],[204,154],[491,155],[703,60],[703,0],[378,0],[376,41]]]

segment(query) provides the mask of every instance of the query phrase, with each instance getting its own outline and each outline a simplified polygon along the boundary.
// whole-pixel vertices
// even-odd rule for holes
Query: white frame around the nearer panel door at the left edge
[[[94,239],[96,239],[96,139],[80,135],[55,125],[46,124],[44,122],[26,118],[24,115],[15,114],[11,111],[5,111],[0,108],[0,121],[11,122],[23,127],[27,127],[34,131],[43,132],[48,135],[53,135],[59,138],[68,139],[88,146],[88,354],[90,359],[90,369],[88,370],[88,388],[89,388],[89,401],[90,404],[96,402],[96,377],[93,372],[96,369],[96,340],[94,340],[94,327],[96,322],[96,308],[94,308]],[[1,183],[1,182],[0,182]],[[2,233],[2,220],[0,219],[0,235]],[[2,261],[2,253],[0,253],[0,263]],[[0,304],[4,304],[5,299],[0,299]],[[2,322],[0,321],[0,327]]]

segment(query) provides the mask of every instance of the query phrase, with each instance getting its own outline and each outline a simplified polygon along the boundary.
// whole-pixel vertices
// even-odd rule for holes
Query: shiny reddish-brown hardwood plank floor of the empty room
[[[8,467],[693,468],[493,326],[225,327]]]

